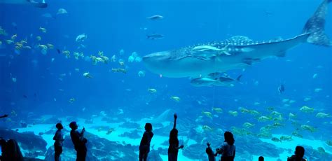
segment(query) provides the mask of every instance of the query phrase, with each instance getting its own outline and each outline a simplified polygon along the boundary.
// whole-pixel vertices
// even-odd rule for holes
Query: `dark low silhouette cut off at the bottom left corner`
[[[23,161],[23,155],[20,150],[20,146],[18,146],[18,142],[9,139],[6,141],[5,139],[0,138],[1,145],[1,160],[4,161]]]

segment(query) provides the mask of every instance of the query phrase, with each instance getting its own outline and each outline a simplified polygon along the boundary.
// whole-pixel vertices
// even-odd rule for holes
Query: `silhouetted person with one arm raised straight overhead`
[[[168,147],[168,161],[177,161],[177,154],[180,148],[184,148],[184,145],[179,146],[179,139],[177,138],[177,113],[174,113],[174,125],[170,132],[170,146]]]

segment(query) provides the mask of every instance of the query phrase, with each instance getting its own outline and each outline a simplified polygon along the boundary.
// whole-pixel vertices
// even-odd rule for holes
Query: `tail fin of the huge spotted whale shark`
[[[331,46],[332,41],[325,34],[325,17],[327,14],[328,3],[332,0],[324,0],[321,5],[317,8],[314,15],[305,23],[303,33],[309,33],[310,36],[307,38],[308,43],[315,45]]]

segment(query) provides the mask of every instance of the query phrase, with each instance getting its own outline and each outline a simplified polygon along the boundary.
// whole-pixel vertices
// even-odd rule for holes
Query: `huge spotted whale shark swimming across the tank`
[[[154,52],[143,57],[152,73],[170,78],[202,78],[210,73],[243,69],[269,57],[284,57],[287,50],[301,43],[331,46],[324,31],[328,3],[324,0],[307,20],[303,34],[286,40],[253,41],[246,36],[233,36],[225,41],[191,45],[177,50]]]

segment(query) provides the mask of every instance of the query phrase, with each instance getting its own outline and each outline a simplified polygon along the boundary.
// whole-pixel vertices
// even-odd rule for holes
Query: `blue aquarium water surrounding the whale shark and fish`
[[[331,118],[315,118],[317,112],[331,111],[331,48],[304,43],[286,52],[286,57],[265,59],[242,70],[228,71],[236,78],[242,74],[240,83],[234,87],[193,87],[189,78],[165,78],[151,73],[143,62],[127,62],[132,52],[140,57],[151,52],[172,50],[209,41],[219,41],[230,36],[249,36],[254,40],[269,40],[282,36],[291,38],[301,33],[307,18],[321,3],[314,1],[48,1],[48,8],[33,8],[0,4],[0,26],[8,36],[0,36],[0,113],[15,111],[19,120],[26,120],[27,113],[36,116],[52,114],[58,117],[74,116],[88,118],[100,111],[116,114],[125,111],[126,118],[139,120],[158,116],[167,109],[177,111],[179,118],[195,120],[202,111],[211,111],[212,106],[223,109],[222,116],[214,117],[205,124],[224,130],[242,127],[245,122],[255,123],[252,131],[265,123],[258,123],[251,116],[238,110],[239,107],[255,109],[268,116],[268,106],[282,113],[296,113],[298,123],[317,128],[317,132],[303,132],[304,138],[331,139]],[[68,13],[56,15],[59,8]],[[331,8],[331,5],[330,5]],[[50,13],[54,18],[43,18]],[[151,21],[151,15],[163,15],[162,20]],[[17,27],[13,26],[13,22]],[[39,27],[47,29],[46,34]],[[158,40],[146,39],[147,34],[162,34]],[[14,51],[14,45],[4,40],[18,34],[17,41],[27,38],[31,50]],[[87,34],[83,43],[75,42],[76,36]],[[332,35],[332,16],[326,18],[326,34]],[[32,35],[32,36],[31,36]],[[35,36],[41,36],[36,41]],[[66,59],[57,50],[48,50],[42,55],[34,46],[52,43],[55,49],[70,50]],[[77,49],[80,44],[86,46]],[[123,49],[124,55],[119,55]],[[93,65],[85,59],[74,59],[74,51],[85,56],[97,56],[98,51],[111,58],[125,60],[127,73],[113,73],[112,68],[123,67],[118,62],[102,62]],[[54,58],[54,62],[51,59]],[[322,67],[317,67],[322,66]],[[79,69],[75,71],[74,69]],[[139,77],[139,71],[146,76]],[[90,72],[93,78],[84,78]],[[63,80],[60,74],[66,73]],[[317,78],[312,78],[317,73]],[[17,78],[14,83],[12,77]],[[277,88],[284,84],[285,92]],[[148,88],[155,88],[151,94]],[[314,89],[321,88],[320,92]],[[60,91],[62,89],[63,91]],[[25,97],[24,97],[25,96]],[[170,97],[181,98],[174,102]],[[27,98],[26,98],[27,97]],[[310,101],[304,101],[310,97]],[[69,99],[74,98],[73,103]],[[284,106],[282,99],[293,99],[295,103]],[[199,104],[199,102],[203,104]],[[260,105],[254,105],[259,102]],[[299,109],[310,106],[314,113]],[[240,116],[228,115],[238,111]],[[139,115],[137,115],[139,113]],[[171,121],[170,118],[169,121]],[[325,123],[326,122],[326,123]],[[273,133],[291,134],[289,123]],[[8,126],[6,123],[1,123]],[[15,128],[15,127],[14,127]],[[285,132],[286,131],[286,132]]]

